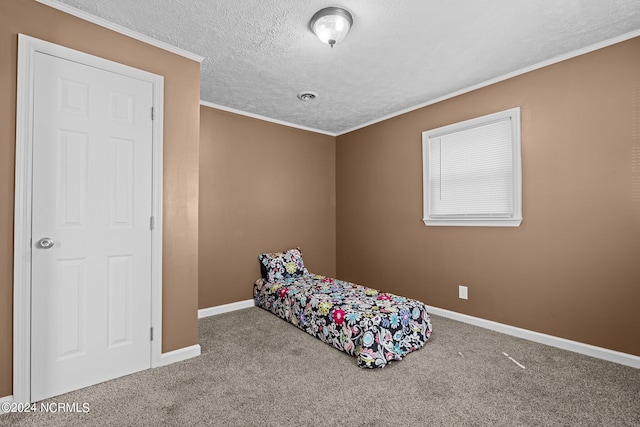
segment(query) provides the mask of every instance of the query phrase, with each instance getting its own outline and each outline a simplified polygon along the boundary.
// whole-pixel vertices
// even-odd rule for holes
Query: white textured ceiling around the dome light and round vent
[[[203,56],[203,101],[330,134],[640,30],[640,0],[59,3]],[[333,49],[308,26],[327,6],[354,17]]]

